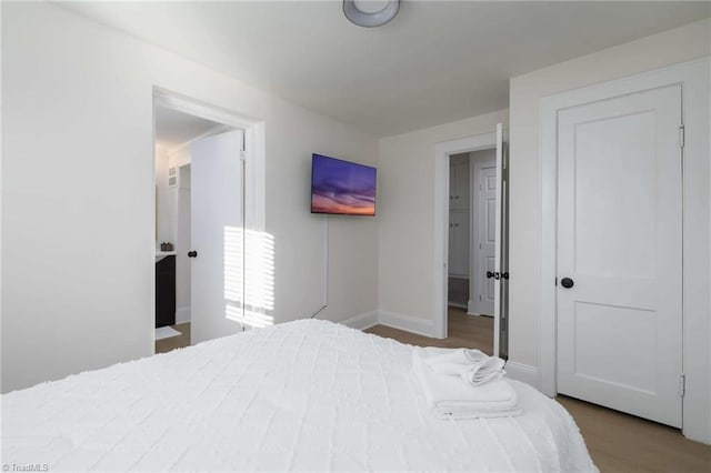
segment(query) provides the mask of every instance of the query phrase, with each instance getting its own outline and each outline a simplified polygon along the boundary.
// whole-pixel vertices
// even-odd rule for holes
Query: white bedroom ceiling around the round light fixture
[[[374,137],[507,108],[511,77],[711,16],[687,1],[403,1],[367,29],[340,1],[61,6]]]

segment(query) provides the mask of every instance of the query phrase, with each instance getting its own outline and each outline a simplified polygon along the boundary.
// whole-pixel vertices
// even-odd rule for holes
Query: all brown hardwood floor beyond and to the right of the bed
[[[365,332],[420,346],[475,348],[493,351],[493,320],[449,310],[449,338],[429,339],[389,326]],[[711,446],[684,439],[665,425],[559,395],[575,420],[592,461],[601,472],[711,472]]]

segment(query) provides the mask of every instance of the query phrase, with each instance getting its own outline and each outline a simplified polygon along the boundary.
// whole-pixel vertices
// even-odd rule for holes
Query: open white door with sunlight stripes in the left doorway
[[[243,299],[243,132],[191,144],[191,342],[241,331]]]

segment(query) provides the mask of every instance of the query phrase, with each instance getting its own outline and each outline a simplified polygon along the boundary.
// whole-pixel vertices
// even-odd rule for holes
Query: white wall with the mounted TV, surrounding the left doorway
[[[320,306],[311,153],[372,164],[374,139],[59,7],[2,10],[3,392],[153,352],[154,85],[264,121],[274,318]],[[375,310],[377,219],[330,225],[321,315]]]

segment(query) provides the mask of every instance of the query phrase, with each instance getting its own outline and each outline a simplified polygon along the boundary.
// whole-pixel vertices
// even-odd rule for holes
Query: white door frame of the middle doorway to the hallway
[[[434,308],[432,309],[434,312],[433,335],[438,339],[445,339],[448,332],[447,292],[449,286],[449,157],[452,154],[480,151],[490,148],[497,148],[495,132],[444,141],[434,145],[434,223],[432,225],[432,228],[434,229],[434,254],[432,260],[434,263],[432,268],[432,274],[434,274]],[[471,185],[469,187],[469,192],[471,194]],[[469,254],[471,258],[471,251]],[[471,271],[472,268],[470,265],[470,278]],[[494,343],[498,342],[494,340]]]

